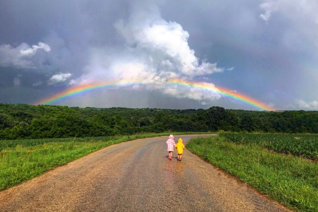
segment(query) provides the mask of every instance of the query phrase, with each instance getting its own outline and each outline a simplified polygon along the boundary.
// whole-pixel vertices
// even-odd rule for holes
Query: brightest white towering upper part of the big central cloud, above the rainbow
[[[158,72],[162,71],[159,64],[189,78],[223,71],[216,63],[197,58],[188,44],[189,33],[180,24],[162,19],[158,11],[150,17],[148,13],[133,15],[126,24],[119,20],[115,28],[131,48],[151,54],[149,63]]]

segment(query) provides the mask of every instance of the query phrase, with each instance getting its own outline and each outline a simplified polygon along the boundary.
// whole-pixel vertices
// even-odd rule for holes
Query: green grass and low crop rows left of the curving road
[[[148,133],[117,137],[52,138],[0,141],[0,190],[30,180],[52,167],[124,141],[156,136],[207,134],[204,132]]]

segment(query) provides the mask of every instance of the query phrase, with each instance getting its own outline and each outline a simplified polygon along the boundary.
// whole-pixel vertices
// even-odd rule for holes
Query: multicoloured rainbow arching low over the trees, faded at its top
[[[92,84],[87,84],[87,85],[81,85],[73,88],[69,88],[61,93],[57,93],[55,95],[50,96],[49,98],[42,99],[39,102],[35,103],[35,105],[38,104],[51,104],[53,102],[59,101],[61,99],[64,99],[69,96],[74,96],[77,94],[82,94],[90,90],[94,90],[97,88],[103,88],[103,87],[111,87],[111,86],[128,86],[128,85],[133,85],[133,84],[154,84],[153,82],[140,82],[140,81],[120,81],[120,82],[101,82],[101,83],[92,83]],[[179,85],[179,86],[185,86],[188,88],[200,88],[206,91],[210,92],[215,92],[224,96],[228,96],[230,98],[239,100],[241,102],[245,102],[249,105],[252,105],[259,110],[275,110],[272,107],[266,105],[263,102],[259,102],[256,99],[253,99],[251,97],[248,97],[246,95],[240,94],[238,92],[234,92],[225,88],[216,88],[213,84],[211,83],[206,83],[206,82],[192,82],[192,81],[187,81],[187,80],[181,80],[181,79],[172,79],[167,82],[167,84],[172,84],[172,85]]]

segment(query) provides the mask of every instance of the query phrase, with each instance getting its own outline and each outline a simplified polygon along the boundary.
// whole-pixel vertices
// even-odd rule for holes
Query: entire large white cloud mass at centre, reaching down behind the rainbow
[[[116,81],[117,87],[122,89],[156,90],[201,103],[220,98],[217,93],[199,88],[167,84],[170,79],[193,80],[222,72],[224,68],[218,67],[216,62],[198,58],[189,46],[189,32],[177,22],[164,20],[158,8],[133,11],[127,21],[120,19],[114,27],[123,49],[91,49],[84,74],[72,80],[70,85]],[[126,81],[135,81],[138,85],[120,84]],[[146,82],[151,85],[142,84]]]

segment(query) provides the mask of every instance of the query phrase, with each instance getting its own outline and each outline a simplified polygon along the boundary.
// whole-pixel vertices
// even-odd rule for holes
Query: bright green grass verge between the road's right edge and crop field
[[[318,211],[318,164],[272,153],[225,137],[195,138],[186,147],[274,200],[300,211]]]

